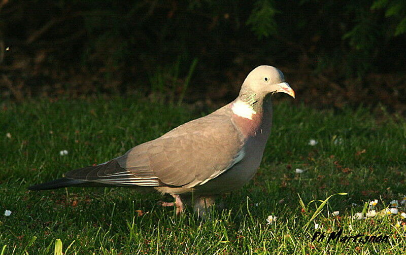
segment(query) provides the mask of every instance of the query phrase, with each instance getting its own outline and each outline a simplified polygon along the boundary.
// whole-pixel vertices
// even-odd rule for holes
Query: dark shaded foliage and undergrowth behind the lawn
[[[232,99],[257,65],[298,102],[406,111],[406,1],[0,0],[2,99]]]

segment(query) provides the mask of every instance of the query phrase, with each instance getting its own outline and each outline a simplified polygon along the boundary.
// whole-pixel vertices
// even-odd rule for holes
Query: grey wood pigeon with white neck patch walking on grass
[[[270,95],[295,97],[282,72],[268,65],[252,70],[239,96],[217,111],[189,121],[103,164],[72,170],[29,190],[64,187],[131,187],[170,194],[177,214],[193,195],[205,212],[215,197],[239,189],[257,171],[272,126]]]

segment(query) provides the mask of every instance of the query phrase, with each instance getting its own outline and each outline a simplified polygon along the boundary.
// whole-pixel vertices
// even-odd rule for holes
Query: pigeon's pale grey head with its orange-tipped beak
[[[281,70],[270,65],[260,65],[248,74],[240,94],[255,93],[257,96],[265,97],[278,92],[295,97],[295,92],[285,82]]]

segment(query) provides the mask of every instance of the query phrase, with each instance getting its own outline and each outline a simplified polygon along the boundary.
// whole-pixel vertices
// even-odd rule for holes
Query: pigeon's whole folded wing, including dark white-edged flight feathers
[[[109,162],[65,174],[113,186],[203,185],[244,158],[242,134],[224,108],[142,143]]]

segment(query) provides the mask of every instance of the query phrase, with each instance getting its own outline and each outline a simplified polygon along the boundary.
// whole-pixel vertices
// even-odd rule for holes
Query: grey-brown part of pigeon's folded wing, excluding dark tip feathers
[[[162,185],[202,185],[244,157],[241,134],[225,115],[188,122],[141,144],[118,160],[137,177],[157,177]]]

